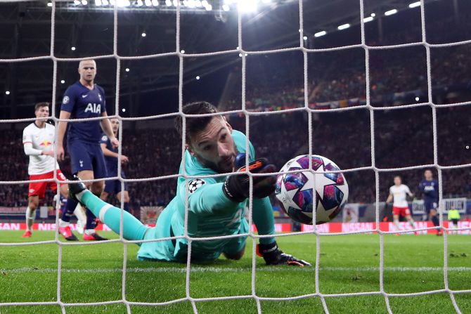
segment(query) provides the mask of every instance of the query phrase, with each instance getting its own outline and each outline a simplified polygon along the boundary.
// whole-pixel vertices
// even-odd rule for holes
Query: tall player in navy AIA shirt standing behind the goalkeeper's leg
[[[79,63],[80,79],[70,85],[64,93],[60,107],[60,119],[83,119],[108,117],[105,105],[105,91],[94,83],[96,76],[95,60],[82,60]],[[57,158],[64,159],[63,140],[67,130],[67,150],[70,155],[72,174],[77,174],[82,180],[106,178],[108,176],[105,158],[101,151],[100,140],[102,130],[110,138],[113,146],[119,142],[112,132],[109,119],[97,119],[85,122],[59,122]],[[87,182],[86,186],[93,194],[100,197],[104,181]],[[66,240],[77,241],[70,230],[70,216],[77,206],[75,199],[67,199],[66,211],[59,220],[59,233]],[[96,221],[93,213],[86,209],[86,228],[84,240],[106,240],[95,231]]]

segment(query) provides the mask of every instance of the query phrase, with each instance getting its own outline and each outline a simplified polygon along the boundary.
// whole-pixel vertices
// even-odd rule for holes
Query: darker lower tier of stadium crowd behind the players
[[[471,126],[467,106],[452,107],[437,114],[438,161],[442,166],[466,164],[470,160]],[[245,131],[245,118],[233,115],[229,121],[235,129]],[[365,110],[322,113],[313,117],[312,152],[335,161],[341,169],[371,166],[370,120]],[[406,109],[375,115],[375,166],[380,169],[433,164],[432,115],[430,109]],[[407,128],[403,126],[407,125]],[[276,126],[273,127],[273,126]],[[27,157],[20,131],[4,131],[0,153],[7,156],[2,165],[2,181],[27,180]],[[124,129],[122,152],[129,157],[123,167],[127,178],[155,178],[178,173],[181,138],[173,129]],[[269,158],[280,169],[296,155],[309,153],[307,116],[300,112],[272,114],[251,119],[250,139],[257,155]],[[437,177],[437,172],[434,171]],[[381,172],[380,199],[387,197],[392,176],[400,174],[416,195],[423,169]],[[471,197],[470,169],[442,171],[446,197]],[[350,186],[349,202],[375,201],[375,174],[366,169],[346,174]],[[131,207],[162,205],[176,192],[176,178],[152,179],[129,183]],[[1,185],[0,204],[25,206],[27,185]],[[51,204],[51,193],[45,203]]]

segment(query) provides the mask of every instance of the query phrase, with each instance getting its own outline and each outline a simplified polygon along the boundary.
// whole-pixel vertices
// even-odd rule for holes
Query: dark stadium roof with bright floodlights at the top
[[[117,0],[122,1],[122,0]],[[196,0],[195,0],[196,1]],[[229,2],[237,0],[230,0]],[[426,3],[437,0],[429,0]],[[47,56],[51,51],[50,1],[14,1],[0,4],[0,58]],[[156,1],[155,1],[156,2]],[[164,0],[159,6],[153,1],[130,1],[132,6],[120,7],[117,14],[117,53],[120,56],[172,53],[176,49],[176,8]],[[176,2],[176,1],[175,1]],[[233,50],[231,54],[186,58],[184,81],[195,79],[240,60],[238,51],[237,9],[222,6],[227,0],[207,0],[212,8],[197,10],[181,5],[180,48],[185,53],[208,53]],[[247,1],[245,1],[247,2]],[[250,2],[250,1],[249,1]],[[255,2],[254,0],[252,2]],[[413,1],[364,0],[365,17],[397,8],[403,10]],[[146,6],[150,4],[150,6]],[[154,3],[155,4],[155,3]],[[314,39],[321,31],[338,32],[339,25],[360,22],[359,0],[303,1],[304,35]],[[299,8],[295,0],[260,0],[257,11],[243,14],[243,48],[247,51],[299,46]],[[56,2],[54,55],[58,58],[83,58],[113,54],[113,9],[96,5],[95,0]],[[145,34],[145,35],[143,35]],[[146,60],[122,60],[122,94],[135,86],[148,91],[178,84],[179,58],[169,55]],[[98,75],[101,81],[115,86],[117,63],[113,58],[101,60]],[[67,86],[77,79],[77,62],[58,63],[58,86]],[[129,70],[126,70],[129,69]],[[129,72],[127,72],[129,71]],[[32,60],[22,63],[0,63],[0,89],[4,93],[0,106],[32,105],[37,100],[51,98],[52,60]],[[60,94],[61,91],[58,91]],[[112,95],[112,93],[111,93]],[[110,96],[110,93],[108,93]],[[0,98],[1,99],[1,98]],[[10,100],[8,100],[10,99]],[[11,100],[11,99],[14,99]],[[16,117],[13,108],[9,117]]]

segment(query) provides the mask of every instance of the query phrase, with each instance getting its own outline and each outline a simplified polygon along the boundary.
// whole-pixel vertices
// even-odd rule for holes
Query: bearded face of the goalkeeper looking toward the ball
[[[232,127],[224,117],[214,117],[191,137],[189,150],[203,166],[219,174],[232,172],[237,149],[231,133]]]

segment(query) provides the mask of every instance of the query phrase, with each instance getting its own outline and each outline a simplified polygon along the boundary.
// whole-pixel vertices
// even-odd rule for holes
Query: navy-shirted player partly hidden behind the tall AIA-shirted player
[[[118,129],[120,128],[120,120],[117,118],[111,118],[111,127],[113,133],[117,136]],[[114,148],[111,144],[110,138],[103,134],[101,136],[101,150],[103,150],[103,155],[105,155],[106,170],[108,171],[108,176],[117,176],[118,169],[118,149]],[[121,155],[120,157],[121,164],[127,164],[129,158],[126,155]],[[124,176],[124,171],[121,169],[121,178],[126,178]],[[129,211],[129,193],[127,191],[127,184],[124,183],[124,190],[122,190],[121,181],[119,180],[108,180],[105,182],[105,190],[101,193],[101,199],[105,202],[108,200],[110,195],[116,195],[118,201],[121,202],[121,194],[123,197],[123,209]]]

